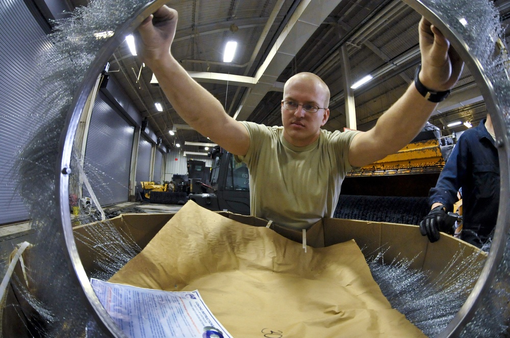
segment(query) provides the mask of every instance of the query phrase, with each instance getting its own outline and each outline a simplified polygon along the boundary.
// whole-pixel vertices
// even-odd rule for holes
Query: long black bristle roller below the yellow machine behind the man
[[[426,197],[340,195],[334,217],[417,226],[429,211]]]

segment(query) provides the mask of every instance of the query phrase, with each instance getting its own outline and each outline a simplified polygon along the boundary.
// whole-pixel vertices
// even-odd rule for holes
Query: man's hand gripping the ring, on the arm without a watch
[[[150,68],[170,57],[177,17],[176,10],[162,6],[138,26],[138,32],[135,33],[137,53]]]

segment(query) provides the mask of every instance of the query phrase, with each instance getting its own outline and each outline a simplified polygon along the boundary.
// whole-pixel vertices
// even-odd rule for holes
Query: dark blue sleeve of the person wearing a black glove
[[[458,139],[439,175],[436,187],[430,189],[429,206],[439,202],[446,206],[447,211],[452,211],[453,204],[458,201],[457,191],[461,187],[463,176],[466,175],[466,162],[469,156],[469,146],[465,141],[464,137]]]

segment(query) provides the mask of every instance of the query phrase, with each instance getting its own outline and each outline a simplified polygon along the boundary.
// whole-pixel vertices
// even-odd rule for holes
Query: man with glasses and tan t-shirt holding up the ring
[[[421,67],[415,81],[367,132],[328,132],[329,89],[312,73],[285,84],[281,127],[239,122],[198,85],[169,52],[177,12],[166,6],[138,28],[137,50],[177,113],[196,131],[247,163],[251,214],[294,229],[331,217],[342,181],[353,167],[408,144],[455,85],[464,63],[448,40],[420,21]]]

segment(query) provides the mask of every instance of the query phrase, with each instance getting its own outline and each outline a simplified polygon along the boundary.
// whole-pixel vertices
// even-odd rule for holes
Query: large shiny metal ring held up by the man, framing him
[[[473,288],[471,294],[469,295],[460,311],[439,335],[439,337],[453,337],[460,334],[464,326],[472,319],[474,312],[476,311],[476,308],[484,295],[484,292],[486,292],[492,284],[496,269],[503,256],[506,244],[506,234],[508,233],[508,226],[510,224],[510,208],[506,207],[506,201],[510,201],[508,189],[510,186],[508,182],[508,179],[510,178],[508,173],[508,168],[510,167],[508,157],[508,128],[504,121],[502,109],[498,104],[491,78],[488,76],[486,70],[483,69],[480,61],[475,59],[474,56],[470,53],[470,48],[463,40],[463,38],[446,22],[441,13],[436,13],[433,9],[428,8],[423,2],[416,0],[403,0],[403,2],[412,7],[421,15],[425,16],[432,24],[436,25],[441,30],[441,32],[450,40],[451,45],[461,55],[462,59],[466,63],[466,66],[469,68],[471,74],[479,86],[479,89],[486,102],[487,109],[490,112],[492,120],[494,121],[494,129],[498,135],[501,190],[496,233],[489,257],[483,267],[480,276],[478,277],[475,287]],[[148,17],[152,12],[154,12],[165,3],[166,0],[155,0],[149,2],[143,8],[139,9],[136,15],[134,15],[131,20],[120,27],[120,29],[115,32],[115,35],[106,42],[103,48],[101,48],[95,60],[89,67],[87,74],[85,74],[84,80],[79,90],[74,95],[74,100],[67,115],[66,126],[63,130],[61,139],[61,154],[58,168],[59,176],[57,179],[59,185],[57,186],[57,189],[59,190],[60,196],[60,212],[62,217],[64,240],[67,245],[67,251],[69,254],[68,259],[77,277],[77,281],[83,289],[83,293],[88,301],[88,305],[90,305],[93,315],[97,320],[98,326],[105,330],[109,335],[115,337],[125,337],[125,335],[113,322],[95,295],[81,263],[77,246],[74,242],[74,236],[70,221],[70,212],[68,208],[69,176],[64,169],[70,167],[73,140],[78,128],[80,116],[100,70],[103,69],[103,66],[108,62],[110,55],[113,54],[115,49],[123,41],[123,37],[133,32],[146,17]]]

